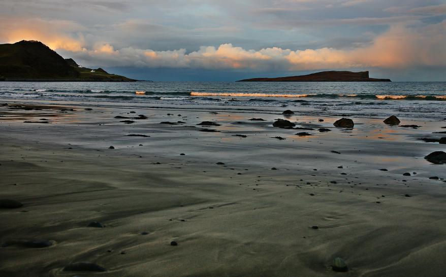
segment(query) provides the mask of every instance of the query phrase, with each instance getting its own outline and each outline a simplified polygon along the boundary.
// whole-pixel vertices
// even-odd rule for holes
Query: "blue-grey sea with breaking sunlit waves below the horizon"
[[[446,82],[0,82],[1,101],[443,119]]]

